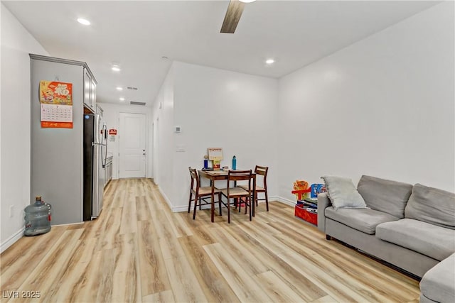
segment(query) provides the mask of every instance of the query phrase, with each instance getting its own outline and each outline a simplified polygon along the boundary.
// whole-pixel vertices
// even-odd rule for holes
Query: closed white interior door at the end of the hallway
[[[119,118],[119,177],[145,177],[145,114],[120,113]]]

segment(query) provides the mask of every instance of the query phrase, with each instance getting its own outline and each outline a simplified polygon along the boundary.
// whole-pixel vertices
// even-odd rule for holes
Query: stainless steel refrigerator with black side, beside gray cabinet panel
[[[97,218],[102,209],[107,157],[107,130],[102,113],[84,114],[84,221]]]

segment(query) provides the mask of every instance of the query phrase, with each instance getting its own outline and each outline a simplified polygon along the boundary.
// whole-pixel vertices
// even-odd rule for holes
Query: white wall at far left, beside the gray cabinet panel
[[[23,234],[23,209],[30,204],[30,57],[48,55],[17,19],[1,13],[1,251]],[[13,206],[12,217],[9,216]]]

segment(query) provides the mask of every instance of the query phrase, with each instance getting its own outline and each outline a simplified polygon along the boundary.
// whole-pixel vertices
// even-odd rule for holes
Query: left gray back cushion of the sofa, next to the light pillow
[[[405,206],[410,198],[412,185],[363,175],[357,190],[371,209],[402,219],[405,217]]]

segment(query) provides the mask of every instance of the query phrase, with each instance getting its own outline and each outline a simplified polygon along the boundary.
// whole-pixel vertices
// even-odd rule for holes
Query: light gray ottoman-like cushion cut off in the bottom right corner
[[[420,291],[434,302],[455,302],[455,253],[425,273]]]

